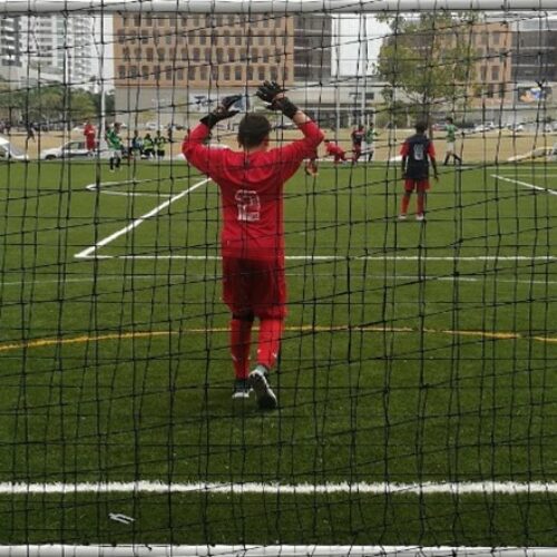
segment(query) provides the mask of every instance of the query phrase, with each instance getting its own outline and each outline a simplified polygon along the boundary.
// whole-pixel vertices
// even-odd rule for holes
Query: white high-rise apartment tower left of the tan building
[[[29,80],[39,80],[43,76],[49,81],[88,86],[96,56],[91,17],[22,17],[20,29]]]

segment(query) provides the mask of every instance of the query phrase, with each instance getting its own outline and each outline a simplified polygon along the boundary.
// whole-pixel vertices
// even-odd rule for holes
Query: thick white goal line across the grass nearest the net
[[[261,483],[261,482],[185,482],[110,481],[80,483],[18,483],[0,482],[0,495],[47,494],[263,494],[263,495],[517,495],[557,494],[557,481],[428,481],[398,482],[339,482],[339,483]]]

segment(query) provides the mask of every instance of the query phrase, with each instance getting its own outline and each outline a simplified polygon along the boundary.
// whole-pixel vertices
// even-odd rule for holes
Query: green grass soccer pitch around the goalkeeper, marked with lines
[[[229,400],[214,184],[184,194],[203,176],[183,162],[0,166],[0,481],[557,481],[556,177],[443,168],[417,223],[397,219],[393,167],[296,175],[280,410],[261,413]],[[549,546],[556,508],[550,491],[0,494],[0,539]]]

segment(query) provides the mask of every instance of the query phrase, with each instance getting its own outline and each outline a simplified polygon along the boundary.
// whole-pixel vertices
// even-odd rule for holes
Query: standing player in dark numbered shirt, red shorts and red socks
[[[433,167],[433,176],[439,179],[436,163],[436,149],[433,143],[426,136],[427,125],[424,123],[416,124],[416,134],[409,137],[400,154],[402,155],[402,177],[404,178],[404,196],[400,207],[399,219],[407,218],[408,205],[412,192],[417,192],[416,219],[423,221],[426,209],[426,193],[429,185],[429,162]]]

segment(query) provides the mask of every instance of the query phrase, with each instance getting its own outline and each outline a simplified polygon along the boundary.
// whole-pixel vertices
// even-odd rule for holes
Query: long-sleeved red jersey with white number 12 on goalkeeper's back
[[[323,133],[313,121],[300,129],[303,139],[250,154],[207,147],[203,141],[209,128],[204,124],[184,139],[182,152],[186,159],[221,189],[224,256],[284,257],[283,186],[304,158],[314,156],[323,140]]]

